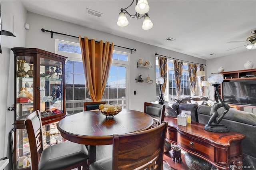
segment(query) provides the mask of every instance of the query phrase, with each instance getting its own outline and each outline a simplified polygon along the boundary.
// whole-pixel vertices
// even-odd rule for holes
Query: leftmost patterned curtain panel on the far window
[[[166,87],[166,82],[167,82],[167,57],[158,57],[158,66],[159,66],[159,74],[161,77],[164,78],[164,84],[162,85],[162,91],[164,94],[165,87]]]

